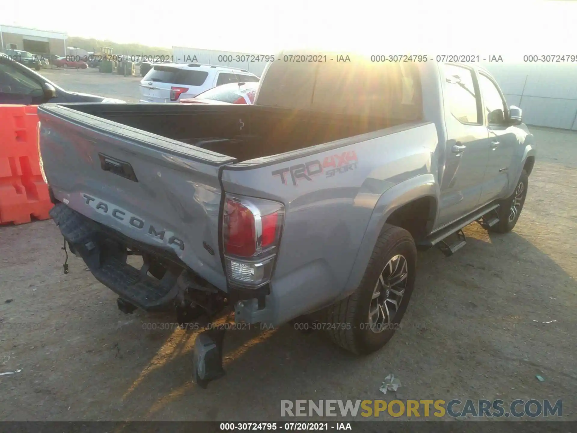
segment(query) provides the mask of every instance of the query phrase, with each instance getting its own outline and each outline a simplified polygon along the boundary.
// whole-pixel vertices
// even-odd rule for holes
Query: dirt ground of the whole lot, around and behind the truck
[[[74,89],[137,81],[45,74],[73,88],[65,79],[84,73],[95,81]],[[128,95],[121,84],[102,94]],[[74,256],[64,275],[53,222],[0,227],[0,372],[21,369],[0,377],[0,419],[279,420],[283,399],[383,398],[394,373],[400,399],[563,399],[576,420],[577,133],[533,130],[538,161],[514,232],[471,225],[455,256],[419,253],[403,327],[383,350],[354,357],[291,326],[233,331],[228,374],[207,390],[191,382],[194,333],[161,330],[172,316],[123,315]]]

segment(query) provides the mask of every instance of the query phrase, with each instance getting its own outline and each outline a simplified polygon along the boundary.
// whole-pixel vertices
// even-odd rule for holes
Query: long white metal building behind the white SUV
[[[267,65],[265,59],[258,54],[203,50],[201,48],[173,47],[173,57],[173,61],[177,63],[231,66],[248,70],[248,72],[258,77],[261,76],[264,67]],[[258,61],[254,61],[255,59],[258,59]]]

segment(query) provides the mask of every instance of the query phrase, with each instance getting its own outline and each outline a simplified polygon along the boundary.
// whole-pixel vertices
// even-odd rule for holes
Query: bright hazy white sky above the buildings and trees
[[[577,1],[6,0],[0,24],[148,46],[256,54],[577,55]],[[8,3],[8,4],[6,4]],[[146,53],[145,53],[146,54]]]

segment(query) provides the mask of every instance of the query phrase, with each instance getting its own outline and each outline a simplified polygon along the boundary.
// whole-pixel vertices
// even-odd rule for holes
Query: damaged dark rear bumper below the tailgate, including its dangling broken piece
[[[158,251],[150,251],[147,245],[136,241],[126,244],[125,238],[114,230],[89,220],[65,204],[54,206],[50,215],[70,251],[78,253],[94,277],[119,295],[120,311],[132,314],[137,308],[175,309],[183,329],[206,329],[198,334],[193,350],[193,379],[199,386],[206,389],[208,382],[224,376],[226,327],[217,326],[212,320],[224,311],[227,299],[215,286]],[[128,256],[141,256],[142,267],[131,266]]]

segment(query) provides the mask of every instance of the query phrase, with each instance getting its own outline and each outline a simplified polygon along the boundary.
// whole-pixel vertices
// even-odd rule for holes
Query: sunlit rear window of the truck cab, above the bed
[[[351,62],[273,62],[257,103],[416,121],[422,118],[419,73],[414,63],[377,63],[362,56]]]

